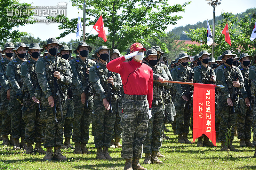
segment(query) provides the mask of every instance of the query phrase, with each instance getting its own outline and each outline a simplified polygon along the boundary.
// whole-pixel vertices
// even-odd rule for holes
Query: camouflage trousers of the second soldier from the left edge
[[[26,124],[22,119],[21,108],[22,108],[22,105],[16,99],[15,91],[11,90],[10,102],[8,105],[8,115],[11,117],[11,130],[12,130],[12,137],[14,139],[25,137]]]

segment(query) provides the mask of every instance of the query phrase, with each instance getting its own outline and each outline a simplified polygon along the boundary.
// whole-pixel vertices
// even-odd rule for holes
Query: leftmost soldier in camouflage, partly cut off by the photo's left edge
[[[12,60],[13,57],[13,50],[14,45],[13,43],[5,43],[4,50],[5,58],[0,60],[0,83],[1,83],[1,104],[0,104],[0,112],[3,116],[2,118],[2,136],[3,136],[3,143],[2,145],[9,145],[9,138],[8,135],[11,133],[11,117],[7,114],[8,104],[10,100],[10,92],[11,92],[11,85],[8,82],[8,78],[5,75],[6,68],[8,63]]]

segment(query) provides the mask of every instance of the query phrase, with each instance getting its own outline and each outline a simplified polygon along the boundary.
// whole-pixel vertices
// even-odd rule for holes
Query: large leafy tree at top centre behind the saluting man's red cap
[[[83,0],[70,0],[72,6],[83,10]],[[166,44],[158,37],[165,37],[167,25],[175,25],[181,16],[173,15],[174,12],[184,12],[185,7],[190,4],[176,4],[170,6],[168,0],[86,0],[86,16],[95,17],[94,20],[86,18],[86,26],[92,26],[102,13],[104,25],[108,28],[108,41],[104,43],[97,40],[97,35],[89,35],[88,44],[97,46],[107,45],[125,51],[132,43],[140,42],[150,45],[147,41],[154,40],[166,52]],[[48,17],[48,19],[53,19]],[[64,16],[58,19],[66,19],[61,23],[59,29],[65,29],[60,37],[76,32],[77,19],[69,20]],[[83,19],[82,19],[83,20]]]

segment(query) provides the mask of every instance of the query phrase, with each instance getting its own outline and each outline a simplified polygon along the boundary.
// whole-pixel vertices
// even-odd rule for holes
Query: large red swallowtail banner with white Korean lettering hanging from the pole
[[[206,135],[216,145],[215,134],[215,85],[194,83],[193,142]]]

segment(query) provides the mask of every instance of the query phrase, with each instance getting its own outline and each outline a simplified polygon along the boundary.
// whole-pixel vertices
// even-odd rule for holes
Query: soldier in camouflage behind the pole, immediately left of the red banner
[[[174,81],[187,82],[189,73],[194,73],[194,71],[187,66],[188,60],[189,57],[187,53],[180,53],[179,61],[181,64],[172,70],[172,78]],[[190,82],[193,82],[193,79],[191,79]],[[175,83],[174,87],[176,90],[174,104],[176,108],[176,134],[179,136],[178,143],[191,143],[188,140],[191,110],[185,107],[186,102],[188,102],[187,95],[189,94],[189,85]]]

